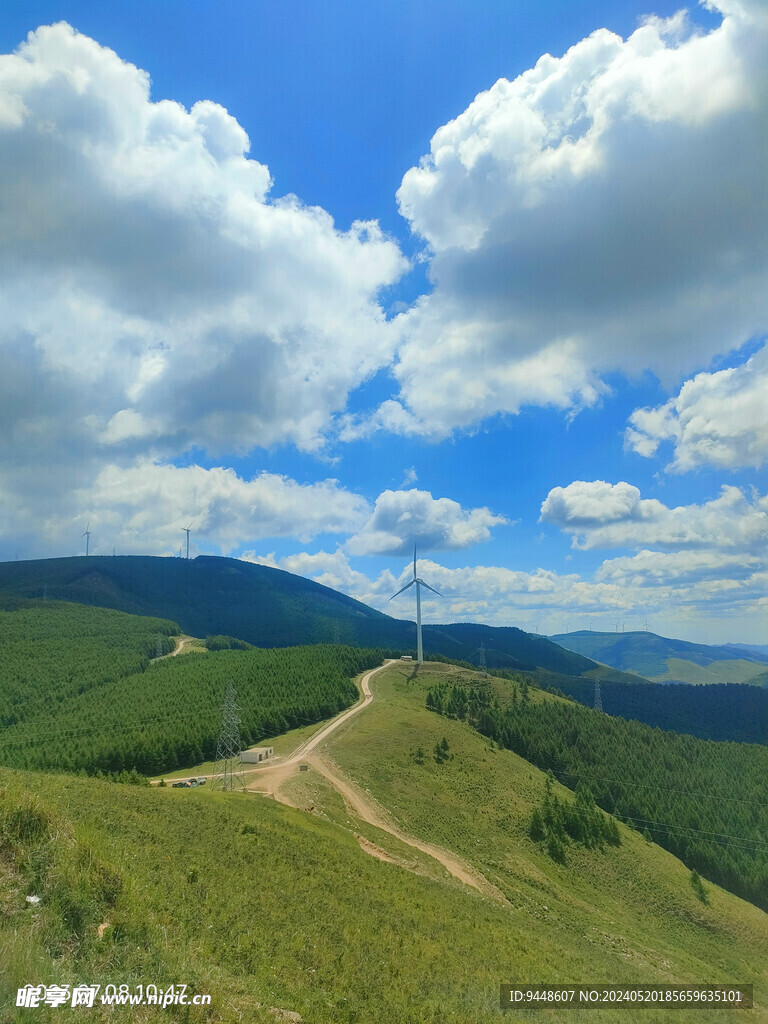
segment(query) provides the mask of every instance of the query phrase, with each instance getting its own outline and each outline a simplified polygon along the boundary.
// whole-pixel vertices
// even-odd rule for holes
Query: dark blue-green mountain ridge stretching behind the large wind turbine
[[[411,651],[413,622],[282,569],[236,558],[91,555],[0,563],[0,593],[93,604],[178,623],[184,632],[224,634],[260,647],[343,643]],[[514,627],[424,626],[425,654],[488,667],[621,681],[587,656]]]

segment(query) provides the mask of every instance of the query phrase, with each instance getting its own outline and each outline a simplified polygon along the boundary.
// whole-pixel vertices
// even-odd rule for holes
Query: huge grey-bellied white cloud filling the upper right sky
[[[352,435],[578,410],[606,371],[672,381],[768,329],[768,12],[711,6],[707,34],[598,30],[437,130],[398,191],[434,291]]]

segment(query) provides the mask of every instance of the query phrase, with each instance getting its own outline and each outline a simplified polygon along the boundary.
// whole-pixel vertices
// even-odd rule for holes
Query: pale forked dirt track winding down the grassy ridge
[[[407,846],[413,847],[415,850],[420,850],[422,853],[426,853],[428,856],[433,857],[440,864],[442,864],[442,866],[451,874],[453,874],[454,878],[464,883],[464,885],[477,889],[478,892],[481,892],[484,896],[489,896],[495,900],[507,903],[508,900],[504,894],[500,892],[496,886],[493,886],[487,879],[476,870],[471,864],[449,850],[443,850],[441,847],[434,846],[431,843],[423,843],[421,840],[402,831],[401,828],[392,822],[387,811],[381,807],[368,793],[360,790],[360,787],[355,785],[355,783],[350,779],[345,778],[338,767],[336,765],[332,765],[328,758],[324,757],[319,753],[313,753],[322,742],[328,739],[328,737],[339,728],[339,726],[348,722],[354,715],[358,715],[364,709],[368,708],[373,700],[373,693],[371,692],[370,686],[371,677],[375,676],[377,672],[381,672],[383,669],[386,669],[391,664],[391,662],[385,662],[384,665],[380,665],[378,669],[372,669],[370,672],[367,672],[360,680],[362,700],[359,703],[350,708],[349,711],[344,712],[343,715],[334,719],[333,722],[330,722],[327,726],[321,729],[319,732],[310,736],[309,739],[301,743],[301,745],[299,745],[294,753],[285,760],[280,761],[279,763],[272,762],[269,765],[257,768],[253,774],[250,775],[247,787],[252,792],[262,793],[265,796],[273,797],[275,800],[280,800],[282,803],[288,804],[290,801],[281,794],[281,786],[297,773],[298,765],[300,763],[303,762],[305,764],[310,764],[331,783],[331,785],[334,786],[335,790],[341,794],[347,809],[355,817],[359,818],[361,821],[367,821],[369,824],[380,828],[382,831],[388,833],[390,836],[394,836],[395,839],[398,839]],[[380,850],[364,837],[357,837],[357,840],[360,843],[361,848],[368,853],[371,853],[374,856],[379,856],[380,859],[394,860],[394,858],[389,857],[384,853],[384,851]],[[381,856],[382,854],[384,854],[383,857]]]

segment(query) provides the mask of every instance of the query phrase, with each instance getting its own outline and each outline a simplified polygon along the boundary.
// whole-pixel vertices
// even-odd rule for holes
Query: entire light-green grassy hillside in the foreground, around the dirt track
[[[287,783],[292,808],[251,795],[0,770],[2,1024],[82,1020],[81,1009],[33,1016],[8,1008],[31,980],[84,979],[131,990],[183,983],[210,994],[210,1008],[164,1011],[185,1022],[531,1019],[500,1013],[503,981],[752,982],[750,1019],[768,1020],[766,915],[707,881],[697,893],[688,869],[623,825],[617,847],[572,844],[564,863],[554,861],[528,834],[543,773],[425,708],[429,688],[466,675],[425,666],[414,677],[393,666],[376,677],[374,703],[322,756],[403,834],[465,858],[499,898],[360,820],[316,771]],[[442,738],[450,754],[438,763],[431,751]],[[419,748],[428,756],[418,759]],[[573,800],[558,783],[553,790]],[[39,906],[25,902],[31,894]],[[88,1011],[95,1021],[157,1013]],[[696,1011],[695,1020],[731,1016]],[[626,1011],[599,1018],[633,1019]],[[567,1019],[596,1017],[572,1011]],[[648,1011],[642,1019],[681,1017]]]

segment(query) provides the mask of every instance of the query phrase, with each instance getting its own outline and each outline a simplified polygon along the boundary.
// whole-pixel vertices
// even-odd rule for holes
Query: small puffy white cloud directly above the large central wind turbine
[[[451,498],[428,490],[384,490],[371,518],[347,542],[354,555],[396,555],[413,551],[458,550],[490,539],[492,526],[508,522],[489,509],[463,509]]]

